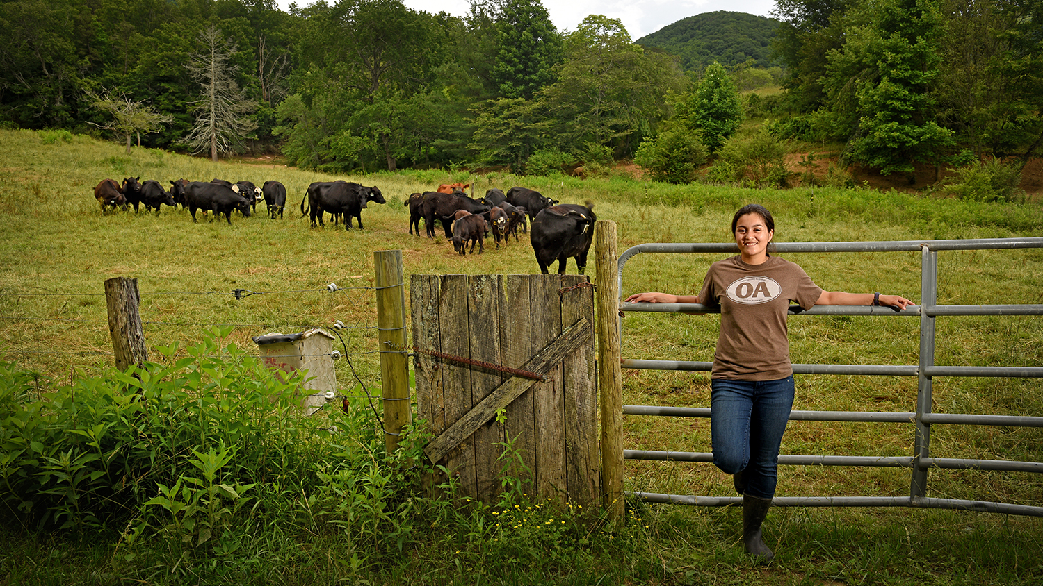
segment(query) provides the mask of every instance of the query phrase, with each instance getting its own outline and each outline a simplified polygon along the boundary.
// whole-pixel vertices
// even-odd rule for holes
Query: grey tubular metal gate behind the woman
[[[1043,516],[1043,507],[927,498],[927,473],[930,468],[1017,470],[1043,473],[1043,462],[1009,460],[971,460],[935,458],[930,454],[930,427],[932,425],[975,425],[1008,427],[1043,427],[1043,416],[1011,416],[990,414],[956,414],[931,412],[931,379],[933,377],[1043,377],[1043,367],[1023,366],[936,366],[935,321],[952,315],[1043,315],[1043,305],[938,305],[938,253],[941,251],[994,250],[1043,248],[1043,238],[985,238],[964,240],[895,240],[864,243],[780,243],[779,253],[823,252],[908,252],[921,251],[920,305],[911,306],[902,315],[920,317],[919,363],[909,365],[888,364],[794,364],[795,374],[870,375],[917,377],[918,392],[915,412],[858,412],[858,411],[792,411],[790,421],[818,422],[890,422],[911,423],[916,427],[914,455],[907,457],[855,457],[780,455],[783,465],[826,466],[891,466],[905,467],[912,472],[908,496],[783,496],[773,504],[782,507],[923,507],[960,509],[983,512]],[[623,290],[623,271],[627,261],[641,253],[737,253],[734,244],[646,244],[632,247],[618,259],[618,285]],[[621,311],[712,313],[701,304],[621,303]],[[804,311],[799,306],[790,308],[791,314],[802,315],[895,315],[889,308],[859,306],[816,306]],[[622,360],[624,368],[710,371],[711,362],[673,360]],[[627,415],[665,415],[682,417],[708,417],[709,408],[655,407],[624,405]],[[678,462],[712,462],[709,453],[655,452],[624,450],[624,459],[665,460]],[[742,502],[739,496],[698,496],[634,492],[631,496],[655,503],[674,503],[695,506],[720,507]]]

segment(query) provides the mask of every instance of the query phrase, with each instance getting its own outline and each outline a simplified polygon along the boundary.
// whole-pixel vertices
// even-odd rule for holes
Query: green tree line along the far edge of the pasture
[[[1043,0],[777,0],[772,62],[786,91],[739,103],[737,87],[767,72],[685,73],[683,55],[632,43],[615,19],[559,31],[539,0],[472,0],[463,18],[399,0],[289,12],[272,0],[6,0],[0,124],[211,156],[277,149],[329,172],[541,173],[636,156],[688,180],[670,172],[678,157],[690,170],[744,116],[766,116],[775,137],[839,141],[883,173],[1026,161],[1043,143],[1041,11]]]

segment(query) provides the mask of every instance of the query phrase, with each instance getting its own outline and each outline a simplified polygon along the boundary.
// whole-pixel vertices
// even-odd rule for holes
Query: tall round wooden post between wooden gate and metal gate
[[[595,230],[598,271],[598,388],[601,393],[602,506],[623,518],[623,372],[620,367],[620,273],[615,222]]]

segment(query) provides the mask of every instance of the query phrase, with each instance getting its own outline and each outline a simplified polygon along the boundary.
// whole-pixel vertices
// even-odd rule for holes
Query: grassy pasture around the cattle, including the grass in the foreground
[[[194,224],[187,211],[167,207],[160,215],[103,215],[93,198],[94,185],[131,175],[165,186],[180,177],[248,179],[258,185],[275,179],[287,186],[288,205],[282,220],[269,220],[261,203],[251,218],[234,214],[232,226],[223,219]],[[146,149],[127,155],[119,145],[83,136],[0,130],[0,359],[32,372],[42,391],[104,371],[113,356],[103,281],[124,276],[139,280],[150,356],[160,356],[161,347],[198,343],[219,326],[232,328],[223,342],[249,352],[256,348],[252,336],[329,327],[339,320],[348,326],[343,335],[357,371],[338,361],[339,383],[354,388],[358,374],[367,385],[379,385],[370,329],[375,305],[367,288],[372,286],[373,251],[402,250],[407,275],[538,272],[524,238],[499,251],[488,240],[483,254],[460,257],[441,236],[410,235],[403,201],[441,182],[472,181],[476,194],[518,184],[565,203],[591,201],[599,219],[617,223],[621,252],[647,241],[726,241],[731,214],[751,201],[774,212],[781,241],[1038,236],[1043,228],[1039,202],[985,204],[865,189],[755,190],[626,177],[519,178],[465,171],[336,178],[375,184],[383,192],[387,204],[363,211],[364,230],[347,232],[330,224],[311,229],[300,216],[307,185],[332,176],[280,165],[215,164]],[[706,267],[717,259],[639,255],[627,264],[624,295],[697,292]],[[792,259],[828,289],[880,290],[919,300],[918,253],[803,254]],[[591,257],[588,274],[592,264]],[[1041,250],[943,252],[940,265],[940,303],[1043,303]],[[326,290],[330,283],[341,290]],[[237,300],[232,295],[236,289],[254,295]],[[794,362],[917,362],[919,331],[913,317],[796,316],[790,328]],[[628,358],[709,360],[715,337],[713,316],[629,313],[623,353]],[[1043,322],[940,319],[936,363],[1041,366]],[[915,380],[897,377],[802,376],[795,408],[915,411],[916,392]],[[936,379],[933,400],[938,412],[1043,413],[1037,380]],[[708,374],[625,371],[624,401],[708,406]],[[628,416],[624,433],[627,448],[709,451],[708,421]],[[795,422],[782,451],[906,456],[912,445],[912,426]],[[1028,428],[936,426],[931,433],[937,457],[1043,461],[1041,445],[1043,434]],[[933,496],[1043,503],[1043,482],[1026,473],[935,470],[929,487]],[[629,462],[626,488],[727,495],[731,482],[707,464]],[[908,473],[783,466],[778,493],[906,495]],[[758,568],[742,555],[739,515],[732,510],[632,503],[625,526],[577,530],[571,534],[579,535],[575,538],[537,528],[537,518],[540,525],[548,519],[565,524],[540,512],[503,528],[499,520],[510,509],[443,511],[434,520],[418,514],[422,527],[389,547],[394,555],[374,557],[356,552],[362,541],[346,532],[301,521],[307,496],[268,499],[270,517],[251,518],[247,525],[252,529],[241,535],[236,553],[210,558],[186,557],[162,534],[143,538],[127,557],[125,545],[115,545],[118,532],[97,539],[4,529],[0,585],[1043,583],[1043,523],[1033,517],[774,509],[766,538],[779,555],[770,567]],[[190,558],[213,565],[197,571],[171,569]]]

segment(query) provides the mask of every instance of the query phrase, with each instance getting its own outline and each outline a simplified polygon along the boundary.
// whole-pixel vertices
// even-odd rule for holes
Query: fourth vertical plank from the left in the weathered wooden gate
[[[503,365],[519,368],[530,358],[530,316],[529,275],[507,275],[504,278],[504,302],[500,305],[500,352],[503,355]],[[511,442],[525,462],[525,469],[514,469],[512,474],[523,483],[529,484],[535,493],[537,422],[533,393],[532,389],[527,389],[507,406],[504,433],[505,441]]]

